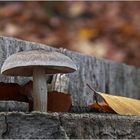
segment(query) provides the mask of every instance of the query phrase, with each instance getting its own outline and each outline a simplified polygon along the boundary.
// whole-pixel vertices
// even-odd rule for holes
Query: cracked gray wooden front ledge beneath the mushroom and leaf
[[[0,138],[140,139],[140,117],[110,114],[3,113]]]

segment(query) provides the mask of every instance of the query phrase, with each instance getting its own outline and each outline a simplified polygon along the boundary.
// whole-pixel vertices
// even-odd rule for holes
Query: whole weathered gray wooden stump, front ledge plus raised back
[[[87,82],[100,92],[140,99],[139,68],[9,37],[0,37],[0,46],[0,67],[9,55],[25,50],[42,48],[69,56],[78,67],[76,72],[68,75],[68,93],[72,95],[73,105],[87,106],[93,101]],[[5,83],[24,84],[29,80],[0,75],[0,82]],[[2,113],[0,138],[140,139],[140,117],[102,113]]]

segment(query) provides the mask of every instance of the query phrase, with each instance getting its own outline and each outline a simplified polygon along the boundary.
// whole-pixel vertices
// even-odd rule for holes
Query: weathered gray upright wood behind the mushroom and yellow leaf
[[[76,63],[78,70],[69,74],[69,93],[72,94],[74,105],[86,106],[89,102],[92,102],[92,92],[86,86],[86,82],[89,82],[100,92],[140,99],[140,69],[66,49],[55,49],[43,44],[0,37],[0,66],[9,55],[15,52],[37,48],[62,52]],[[20,84],[27,80],[28,78],[0,75],[0,81],[3,82]]]

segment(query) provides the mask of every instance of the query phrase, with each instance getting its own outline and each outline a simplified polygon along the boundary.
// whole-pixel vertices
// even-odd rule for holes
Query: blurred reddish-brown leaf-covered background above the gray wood
[[[0,2],[0,35],[140,66],[140,2]]]

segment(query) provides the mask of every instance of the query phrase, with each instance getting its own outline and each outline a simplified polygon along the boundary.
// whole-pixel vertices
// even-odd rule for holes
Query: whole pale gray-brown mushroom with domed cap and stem
[[[45,74],[71,73],[76,69],[74,62],[62,53],[31,50],[9,56],[1,73],[8,76],[33,76],[34,110],[47,112]]]

